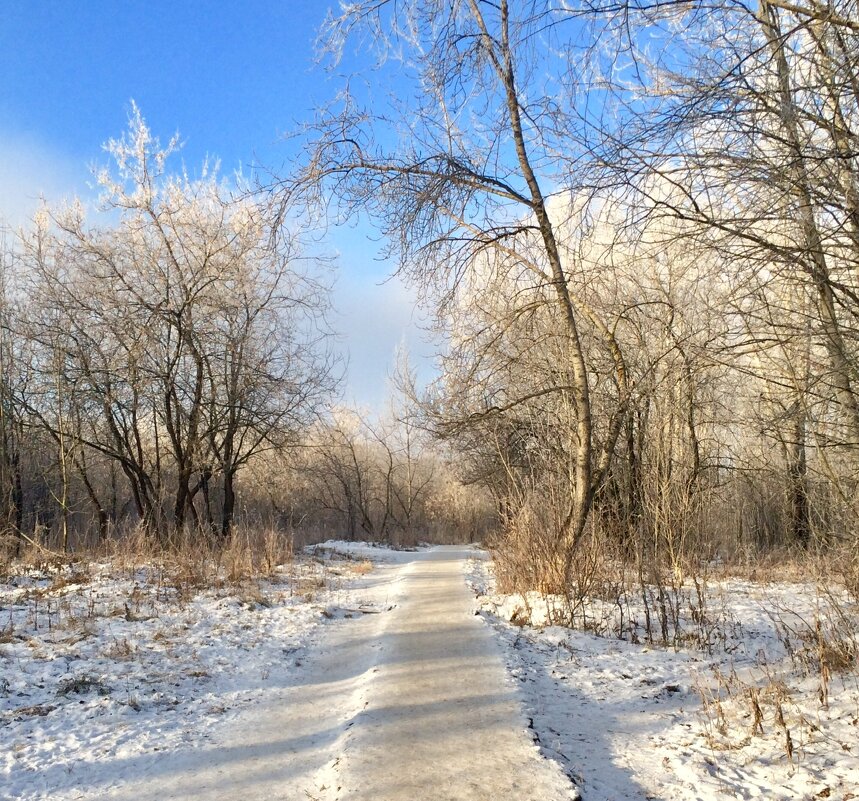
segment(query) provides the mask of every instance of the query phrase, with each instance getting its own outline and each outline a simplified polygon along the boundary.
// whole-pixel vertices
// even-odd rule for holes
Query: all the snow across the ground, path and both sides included
[[[801,580],[705,594],[681,592],[663,647],[632,598],[556,625],[558,599],[498,593],[475,549],[330,541],[208,584],[21,568],[0,799],[550,801],[566,777],[584,801],[859,799],[855,603]]]

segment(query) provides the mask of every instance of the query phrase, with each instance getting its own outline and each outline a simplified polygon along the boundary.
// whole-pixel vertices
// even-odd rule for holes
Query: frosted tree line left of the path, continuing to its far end
[[[329,271],[281,200],[206,165],[172,173],[177,148],[132,107],[106,146],[99,207],[46,205],[4,240],[7,550],[134,531],[217,547],[237,522],[302,538],[479,538],[481,493],[458,487],[406,406],[336,403]]]

